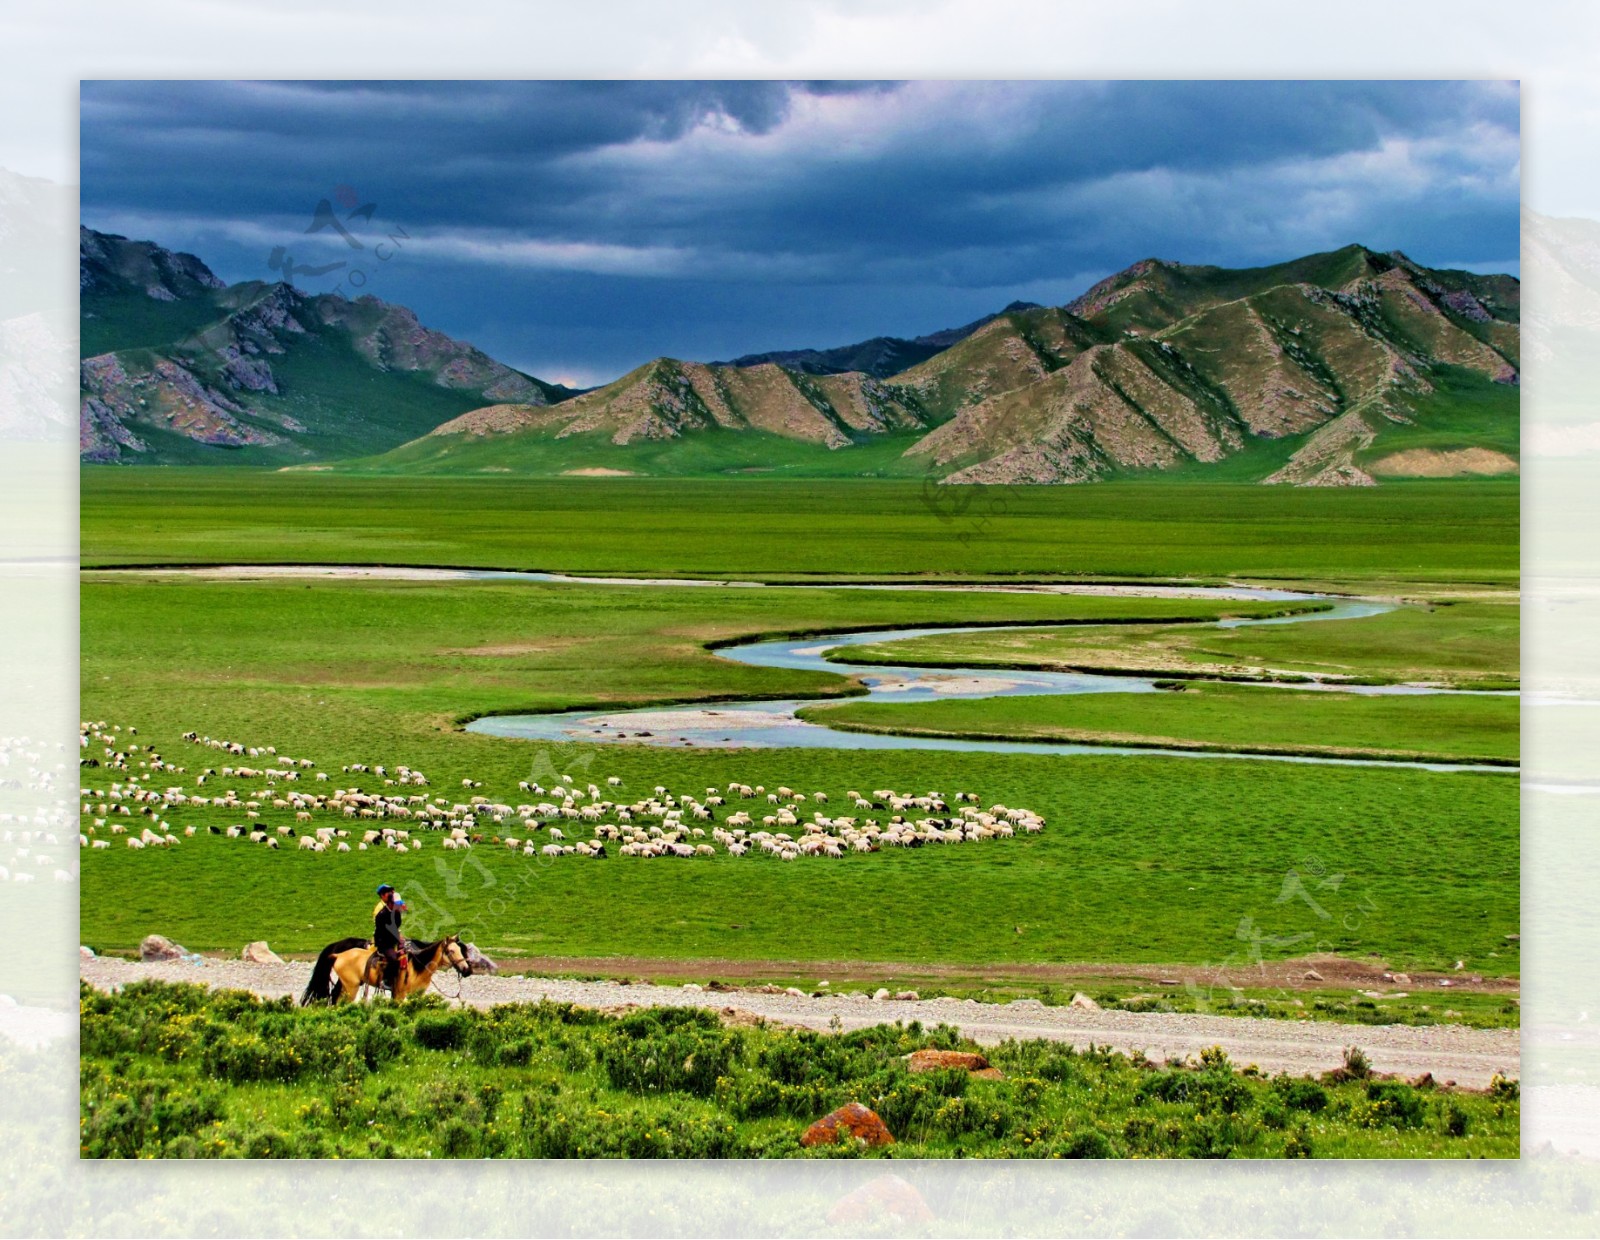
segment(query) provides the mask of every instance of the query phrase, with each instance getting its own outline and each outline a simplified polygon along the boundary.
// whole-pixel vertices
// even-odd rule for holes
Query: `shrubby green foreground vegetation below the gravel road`
[[[560,1005],[294,1010],[139,984],[82,1000],[83,1157],[862,1157],[800,1146],[862,1101],[883,1157],[1506,1157],[1518,1090],[1320,1082],[1157,1066],[1048,1042],[987,1053],[1003,1078],[912,1074],[949,1029],[840,1035],[723,1027],[710,1011],[621,1019]],[[1357,1074],[1358,1077],[1358,1074]]]

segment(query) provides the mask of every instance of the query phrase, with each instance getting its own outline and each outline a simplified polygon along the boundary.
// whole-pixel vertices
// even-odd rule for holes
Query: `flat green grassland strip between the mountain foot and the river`
[[[403,478],[90,467],[85,565],[390,563],[667,576],[1256,578],[1514,587],[1514,482]]]

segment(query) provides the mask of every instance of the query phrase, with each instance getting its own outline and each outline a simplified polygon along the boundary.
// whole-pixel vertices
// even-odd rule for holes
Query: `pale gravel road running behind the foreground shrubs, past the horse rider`
[[[98,957],[83,960],[78,976],[91,986],[110,989],[139,979],[190,981],[213,987],[254,990],[259,995],[298,995],[310,976],[310,965],[288,962],[254,965],[240,960],[189,963],[138,963]],[[1237,1064],[1256,1064],[1264,1072],[1325,1072],[1342,1061],[1344,1046],[1366,1051],[1378,1072],[1453,1080],[1466,1088],[1485,1088],[1499,1072],[1520,1075],[1520,1032],[1515,1029],[1466,1029],[1461,1026],[1349,1026],[1325,1021],[1275,1021],[1250,1016],[1200,1016],[1189,1013],[1131,1013],[1083,1008],[1051,1008],[1038,1000],[976,1003],[973,1000],[883,1000],[866,995],[826,995],[822,998],[763,994],[762,990],[712,992],[683,986],[624,986],[614,981],[581,982],[557,978],[438,979],[446,995],[461,986],[461,1002],[474,1006],[538,1002],[579,1003],[590,1008],[704,1006],[765,1018],[806,1029],[862,1029],[886,1021],[922,1021],[925,1026],[952,1024],[984,1045],[1005,1038],[1053,1038],[1086,1046],[1142,1050],[1152,1059],[1198,1054],[1203,1046],[1221,1045]]]

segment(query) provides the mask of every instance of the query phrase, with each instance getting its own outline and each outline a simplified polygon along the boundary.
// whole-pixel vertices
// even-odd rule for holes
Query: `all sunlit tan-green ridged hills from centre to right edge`
[[[1512,277],[1355,245],[1246,270],[1146,259],[1067,306],[958,330],[888,379],[659,358],[558,408],[474,411],[365,466],[1312,486],[1510,474],[1518,317]]]

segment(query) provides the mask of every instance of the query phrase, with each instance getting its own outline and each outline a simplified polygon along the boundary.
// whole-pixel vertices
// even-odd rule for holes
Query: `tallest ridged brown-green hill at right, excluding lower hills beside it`
[[[1514,472],[1518,306],[1512,277],[1363,246],[1248,270],[1147,259],[894,381],[944,419],[910,454],[947,482]]]

